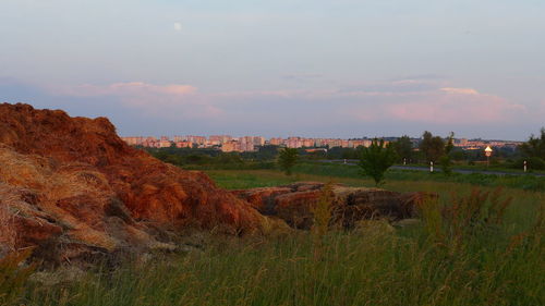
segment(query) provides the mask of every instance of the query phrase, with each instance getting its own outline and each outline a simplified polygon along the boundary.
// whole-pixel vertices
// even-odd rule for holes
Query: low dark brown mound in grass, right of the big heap
[[[312,208],[318,203],[324,183],[300,182],[286,186],[233,191],[266,216],[275,216],[296,229],[313,224]],[[428,197],[426,193],[400,194],[396,192],[331,185],[331,222],[352,228],[363,219],[387,218],[392,221],[412,218],[416,206]]]

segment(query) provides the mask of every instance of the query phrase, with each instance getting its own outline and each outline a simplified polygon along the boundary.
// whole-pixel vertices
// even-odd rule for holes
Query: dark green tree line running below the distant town
[[[291,173],[293,167],[301,160],[313,159],[354,159],[366,175],[376,178],[376,183],[384,181],[384,172],[395,163],[433,162],[449,175],[452,167],[464,158],[460,155],[460,148],[453,145],[455,134],[447,137],[433,135],[425,131],[421,140],[415,144],[404,135],[396,142],[388,143],[374,139],[368,148],[330,148],[322,151],[306,151],[305,149],[280,148],[278,146],[263,146],[254,152],[221,152],[217,149],[189,149],[189,148],[145,148],[156,158],[180,167],[208,167],[208,168],[274,168],[275,164],[286,173]],[[510,167],[522,169],[526,161],[529,169],[545,169],[545,128],[541,135],[531,135],[529,140],[518,148],[518,158],[510,162]],[[483,159],[482,150],[471,152],[475,159]],[[500,155],[501,150],[495,148],[494,155]],[[493,157],[492,161],[495,161]],[[471,162],[471,161],[470,161]],[[380,174],[382,173],[382,174]]]

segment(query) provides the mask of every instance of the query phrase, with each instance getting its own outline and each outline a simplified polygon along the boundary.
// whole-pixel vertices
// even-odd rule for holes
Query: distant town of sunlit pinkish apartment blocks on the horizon
[[[313,150],[324,150],[334,147],[342,148],[356,148],[356,147],[368,147],[373,138],[305,138],[305,137],[272,137],[265,138],[262,136],[243,136],[233,137],[230,135],[210,135],[206,136],[131,136],[121,137],[125,143],[132,146],[142,146],[149,148],[211,148],[218,149],[223,152],[243,152],[243,151],[256,151],[258,147],[262,146],[283,146],[289,148],[306,148],[308,151]],[[382,137],[385,143],[396,142],[398,137]],[[421,138],[411,138],[414,147],[417,147]],[[522,142],[511,142],[511,140],[485,140],[485,139],[468,139],[468,138],[455,138],[455,146],[460,147],[465,150],[481,150],[487,146],[496,148],[516,148],[521,145]]]

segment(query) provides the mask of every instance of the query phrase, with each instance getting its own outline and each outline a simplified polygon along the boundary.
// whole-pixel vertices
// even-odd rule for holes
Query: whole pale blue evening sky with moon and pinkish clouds
[[[0,101],[120,135],[545,126],[543,0],[1,0]]]

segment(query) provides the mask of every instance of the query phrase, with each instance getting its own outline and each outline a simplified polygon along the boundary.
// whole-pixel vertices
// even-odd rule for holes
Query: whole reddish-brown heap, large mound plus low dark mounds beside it
[[[37,247],[51,262],[174,249],[182,229],[308,229],[324,184],[227,192],[126,145],[105,118],[0,105],[0,257]],[[424,194],[332,187],[334,222],[412,217]],[[274,216],[268,218],[266,216]],[[283,221],[282,221],[283,220]],[[286,222],[284,222],[286,221]]]

